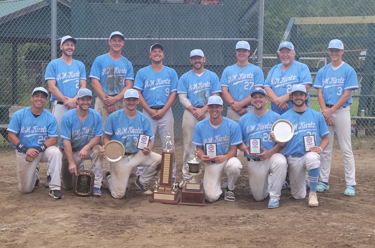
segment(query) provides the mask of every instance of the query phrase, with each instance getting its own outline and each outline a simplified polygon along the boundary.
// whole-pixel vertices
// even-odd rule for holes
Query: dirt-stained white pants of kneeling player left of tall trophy
[[[148,165],[145,172],[139,176],[139,182],[144,185],[159,172],[162,156],[151,151],[145,156],[141,151],[124,157],[118,162],[110,162],[111,175],[107,177],[107,186],[114,198],[121,199],[125,195],[127,181],[132,169]]]

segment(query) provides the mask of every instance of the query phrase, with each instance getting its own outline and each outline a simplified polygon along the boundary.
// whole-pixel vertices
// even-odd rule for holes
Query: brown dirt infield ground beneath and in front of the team
[[[176,150],[180,179],[182,148]],[[121,200],[111,197],[105,178],[101,198],[76,197],[62,190],[64,198],[53,200],[43,187],[45,163],[40,166],[40,185],[30,194],[21,194],[14,152],[0,153],[0,247],[373,248],[374,151],[360,148],[354,153],[356,197],[342,194],[344,169],[335,149],[331,189],[318,193],[319,207],[309,208],[308,198],[294,200],[290,190],[284,190],[278,209],[267,209],[268,198],[257,202],[252,197],[243,156],[236,202],[221,196],[216,203],[191,207],[149,203],[133,188],[135,171]],[[105,162],[103,171],[107,168]]]

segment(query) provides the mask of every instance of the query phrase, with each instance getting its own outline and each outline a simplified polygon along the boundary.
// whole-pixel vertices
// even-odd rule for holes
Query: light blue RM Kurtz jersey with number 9
[[[142,91],[142,95],[150,107],[163,106],[169,95],[177,91],[178,77],[175,70],[164,66],[159,72],[151,65],[140,69],[134,80],[134,89]]]

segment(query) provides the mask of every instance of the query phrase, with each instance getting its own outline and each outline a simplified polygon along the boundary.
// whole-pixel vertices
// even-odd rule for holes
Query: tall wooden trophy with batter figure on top
[[[155,182],[154,191],[150,197],[150,202],[177,204],[180,200],[178,195],[178,187],[172,183],[172,163],[173,150],[171,136],[166,133],[165,151],[162,151],[162,161],[160,168],[160,177]]]

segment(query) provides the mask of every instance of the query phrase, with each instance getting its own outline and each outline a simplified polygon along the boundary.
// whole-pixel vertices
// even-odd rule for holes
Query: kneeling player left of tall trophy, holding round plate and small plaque
[[[127,181],[132,169],[137,166],[146,166],[144,172],[134,181],[135,187],[142,194],[151,195],[147,184],[159,172],[161,156],[151,151],[152,140],[155,138],[150,120],[137,111],[139,103],[138,91],[127,89],[124,94],[125,109],[117,110],[108,116],[104,125],[104,144],[111,140],[120,141],[125,148],[124,156],[117,162],[110,162],[110,171],[105,174],[107,186],[114,198],[121,199],[125,195]],[[150,136],[147,147],[137,149],[139,134]],[[105,157],[105,150],[101,152]]]

